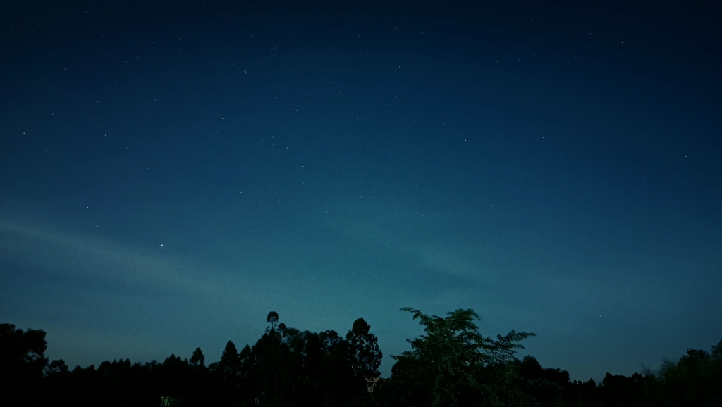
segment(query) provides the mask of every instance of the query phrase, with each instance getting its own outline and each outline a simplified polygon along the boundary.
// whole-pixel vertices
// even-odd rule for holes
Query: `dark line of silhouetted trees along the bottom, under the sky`
[[[534,333],[496,338],[479,333],[474,310],[445,317],[404,308],[424,328],[411,349],[391,356],[391,377],[381,379],[383,354],[370,325],[359,318],[345,336],[313,333],[279,323],[277,312],[253,346],[228,341],[221,359],[206,365],[203,351],[163,362],[106,361],[70,370],[48,362],[42,330],[0,324],[0,404],[3,406],[722,406],[722,341],[710,353],[687,349],[658,371],[604,380],[570,380],[516,358]]]

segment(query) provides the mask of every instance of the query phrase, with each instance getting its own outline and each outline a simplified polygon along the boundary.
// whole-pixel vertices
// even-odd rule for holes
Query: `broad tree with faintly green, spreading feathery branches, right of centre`
[[[521,389],[521,377],[510,367],[514,342],[533,336],[516,333],[497,336],[497,341],[479,333],[474,310],[448,312],[446,318],[426,315],[413,308],[414,319],[425,335],[407,340],[411,351],[391,356],[396,364],[391,381],[379,390],[382,404],[393,406],[514,406],[529,403]]]

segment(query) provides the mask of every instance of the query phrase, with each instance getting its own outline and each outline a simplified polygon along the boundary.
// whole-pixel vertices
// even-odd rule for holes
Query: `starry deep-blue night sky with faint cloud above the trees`
[[[57,3],[0,5],[0,323],[51,359],[271,310],[383,377],[401,307],[579,380],[722,338],[719,2]]]

